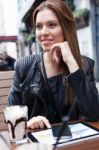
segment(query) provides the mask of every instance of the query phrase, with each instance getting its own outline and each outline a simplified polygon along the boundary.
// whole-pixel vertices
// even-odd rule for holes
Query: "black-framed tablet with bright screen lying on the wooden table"
[[[28,133],[28,137],[33,142],[41,142],[43,144],[55,144],[62,125],[52,126],[52,129],[40,130]],[[99,136],[99,130],[88,123],[77,122],[66,125],[64,132],[58,144],[78,142],[84,139]]]

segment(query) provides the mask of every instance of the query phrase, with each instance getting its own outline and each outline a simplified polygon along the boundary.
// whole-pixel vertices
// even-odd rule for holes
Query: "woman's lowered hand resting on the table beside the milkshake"
[[[51,128],[51,125],[46,117],[37,116],[33,117],[27,122],[27,128],[30,129],[43,129],[44,127]]]

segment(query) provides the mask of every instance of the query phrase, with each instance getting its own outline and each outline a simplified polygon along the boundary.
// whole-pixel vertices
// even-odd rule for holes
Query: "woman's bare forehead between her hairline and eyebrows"
[[[55,20],[58,21],[56,14],[49,8],[44,8],[43,10],[39,11],[36,17],[37,22]]]

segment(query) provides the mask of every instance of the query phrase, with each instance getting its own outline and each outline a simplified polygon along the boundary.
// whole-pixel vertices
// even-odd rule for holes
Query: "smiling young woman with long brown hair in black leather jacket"
[[[70,119],[99,118],[94,61],[81,57],[75,21],[63,1],[42,2],[33,13],[40,56],[18,60],[10,105],[27,105],[29,128],[50,127],[69,114]]]

